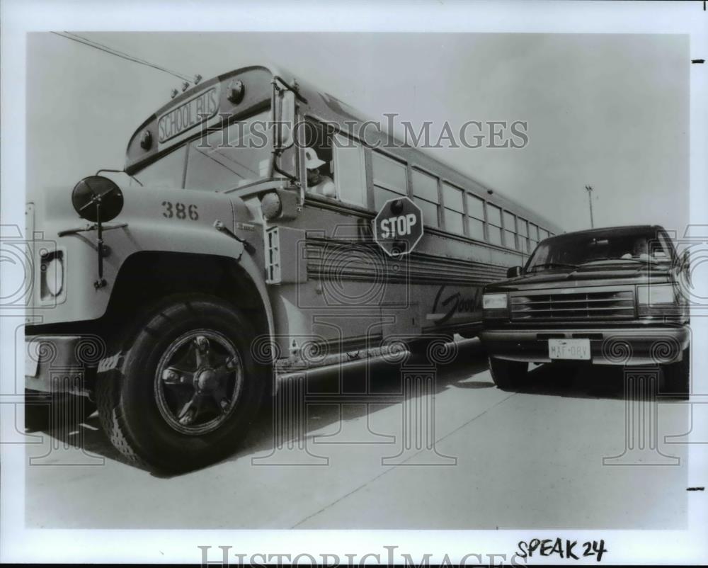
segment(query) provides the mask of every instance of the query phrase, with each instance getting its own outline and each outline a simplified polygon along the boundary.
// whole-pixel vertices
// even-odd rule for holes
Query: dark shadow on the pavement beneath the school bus
[[[271,401],[272,404],[266,403],[264,405],[263,411],[252,424],[249,434],[240,444],[239,450],[223,461],[238,460],[247,455],[271,450],[275,448],[277,443],[290,441],[294,437],[307,437],[313,431],[320,431],[327,426],[366,416],[367,404],[365,402],[352,404],[354,400],[366,401],[370,399],[370,404],[375,405],[375,410],[378,411],[416,397],[416,391],[407,392],[404,390],[402,370],[404,368],[426,368],[426,366],[429,366],[429,363],[425,355],[411,354],[409,358],[406,358],[403,367],[401,363],[388,363],[377,359],[361,360],[334,368],[309,371],[306,377],[307,394],[305,394],[305,400],[306,402],[307,399],[317,401],[316,420],[306,419],[303,421],[302,428],[292,428],[293,436],[276,439],[273,428],[273,409],[282,408],[282,404],[284,404],[281,389]],[[486,370],[488,370],[486,354],[479,341],[459,341],[457,356],[454,360],[435,368],[433,394],[450,388],[493,388],[494,385],[489,374],[484,377],[476,377],[476,375],[485,373]],[[326,402],[322,402],[323,400]],[[98,421],[98,414],[95,412],[81,424],[39,431],[33,430],[28,424],[25,431],[50,436],[54,440],[53,443],[55,445],[58,443],[60,447],[79,448],[85,453],[144,469],[156,477],[173,477],[154,472],[124,458],[118,450],[115,450],[103,433]]]

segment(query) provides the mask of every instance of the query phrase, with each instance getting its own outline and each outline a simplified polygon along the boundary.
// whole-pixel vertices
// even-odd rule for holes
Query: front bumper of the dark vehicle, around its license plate
[[[690,343],[687,325],[619,329],[485,329],[479,337],[490,356],[530,363],[550,363],[549,339],[589,339],[596,365],[665,365],[683,359]]]

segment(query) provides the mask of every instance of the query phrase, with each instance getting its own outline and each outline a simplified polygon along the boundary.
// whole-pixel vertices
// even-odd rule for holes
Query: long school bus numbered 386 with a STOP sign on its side
[[[244,67],[144,120],[118,178],[28,203],[26,392],[95,401],[127,458],[185,470],[233,450],[274,377],[476,336],[484,285],[559,227],[364,123]],[[404,201],[422,233],[384,249]]]

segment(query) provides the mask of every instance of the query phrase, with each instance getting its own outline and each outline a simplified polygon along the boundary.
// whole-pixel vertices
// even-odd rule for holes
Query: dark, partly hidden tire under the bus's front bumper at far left
[[[96,404],[86,397],[25,391],[25,428],[30,431],[72,428],[95,411]]]

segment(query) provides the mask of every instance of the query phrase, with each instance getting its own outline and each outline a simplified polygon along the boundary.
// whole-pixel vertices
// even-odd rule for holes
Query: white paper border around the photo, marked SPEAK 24
[[[0,223],[23,223],[25,187],[25,34],[30,31],[436,31],[504,33],[680,33],[690,35],[690,57],[706,58],[706,13],[701,2],[478,2],[389,1],[237,2],[229,1],[38,1],[4,0],[1,5],[1,164]],[[206,9],[205,6],[209,6]],[[317,18],[312,18],[316,11]],[[326,16],[325,16],[326,14]],[[218,17],[216,17],[218,15]],[[229,23],[233,22],[233,23]],[[707,65],[693,65],[690,74],[690,203],[691,222],[708,225],[705,157],[708,111]],[[51,93],[47,93],[50,97]],[[669,190],[670,191],[670,190]],[[4,267],[5,268],[5,267]],[[10,268],[11,270],[11,268]],[[700,283],[708,297],[707,283]],[[0,318],[0,392],[14,392],[15,318]],[[695,345],[708,345],[707,322],[692,322]],[[21,351],[21,350],[18,350]],[[697,389],[708,392],[706,353],[693,350]],[[20,369],[21,370],[21,365]],[[17,384],[22,384],[18,382]],[[700,387],[702,385],[702,388]],[[5,406],[5,405],[3,405]],[[13,412],[2,409],[0,428],[13,428]],[[21,410],[20,410],[21,412]],[[18,420],[22,416],[18,415]],[[21,424],[21,422],[20,422]],[[705,483],[706,450],[690,449],[689,484]],[[200,562],[198,545],[219,545],[232,552],[301,552],[340,555],[385,553],[398,546],[414,559],[434,552],[432,562],[447,553],[462,555],[517,550],[529,538],[605,539],[612,564],[702,563],[708,552],[708,506],[705,492],[690,496],[688,530],[59,530],[25,529],[25,448],[0,448],[0,560],[2,562]],[[60,490],[57,488],[57,490]],[[110,490],[110,488],[106,488]],[[96,496],[93,496],[95,499]],[[326,538],[323,538],[326,533]],[[326,545],[324,545],[326,543]],[[324,550],[326,546],[326,550]],[[212,560],[215,560],[212,559]],[[317,558],[317,557],[316,557]],[[235,557],[234,557],[234,560]],[[402,562],[401,557],[397,557]],[[307,562],[307,559],[304,559]],[[544,563],[566,560],[543,558]],[[474,561],[473,561],[474,562]],[[507,560],[508,562],[508,560]],[[581,562],[577,562],[581,564]],[[585,563],[597,564],[588,559]]]

